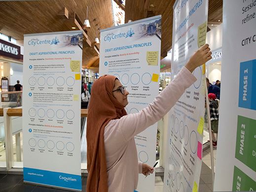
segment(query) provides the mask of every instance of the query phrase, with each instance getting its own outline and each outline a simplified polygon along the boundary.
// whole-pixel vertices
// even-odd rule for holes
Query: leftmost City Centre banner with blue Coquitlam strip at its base
[[[24,182],[81,191],[81,31],[24,35]]]

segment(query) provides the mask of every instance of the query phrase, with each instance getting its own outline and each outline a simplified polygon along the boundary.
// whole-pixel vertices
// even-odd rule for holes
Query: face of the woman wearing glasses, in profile
[[[128,104],[127,96],[129,95],[129,92],[124,90],[124,94],[122,94],[122,88],[122,84],[116,79],[114,81],[113,96],[123,105],[123,107],[125,107]]]

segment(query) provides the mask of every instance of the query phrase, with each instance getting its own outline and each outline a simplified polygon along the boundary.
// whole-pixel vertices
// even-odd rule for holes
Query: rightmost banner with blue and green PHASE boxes
[[[256,0],[223,1],[214,191],[256,191]]]

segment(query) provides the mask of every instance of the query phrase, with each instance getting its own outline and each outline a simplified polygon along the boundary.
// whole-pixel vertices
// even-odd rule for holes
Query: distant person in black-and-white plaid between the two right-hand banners
[[[208,97],[209,97],[213,147],[217,147],[218,125],[219,125],[219,110],[218,110],[219,102],[216,98],[216,95],[213,93],[208,94]],[[214,133],[216,133],[217,135],[216,137],[214,136]]]

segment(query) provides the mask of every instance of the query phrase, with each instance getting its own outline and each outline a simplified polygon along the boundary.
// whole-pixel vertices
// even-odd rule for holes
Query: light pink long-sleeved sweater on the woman
[[[134,192],[139,173],[142,173],[134,136],[159,121],[195,81],[196,78],[183,67],[176,78],[146,108],[108,123],[104,141],[109,192]]]

